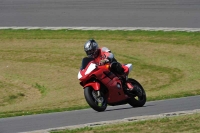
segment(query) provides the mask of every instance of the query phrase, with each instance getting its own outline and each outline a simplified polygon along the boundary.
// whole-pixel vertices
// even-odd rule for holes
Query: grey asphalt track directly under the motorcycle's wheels
[[[29,132],[60,127],[96,123],[100,121],[122,120],[134,116],[148,116],[177,111],[200,109],[200,96],[175,98],[147,102],[144,107],[130,105],[109,106],[104,112],[93,109],[66,111],[0,119],[0,133]]]

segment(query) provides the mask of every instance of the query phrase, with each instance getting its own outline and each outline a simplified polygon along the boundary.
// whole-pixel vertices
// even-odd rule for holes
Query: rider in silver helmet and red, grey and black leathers
[[[85,43],[84,51],[86,52],[88,58],[94,58],[94,62],[98,65],[104,65],[108,62],[111,63],[111,71],[118,74],[123,82],[127,80],[127,76],[125,75],[122,65],[117,62],[114,58],[114,54],[108,48],[99,48],[97,42],[94,39],[90,39]]]

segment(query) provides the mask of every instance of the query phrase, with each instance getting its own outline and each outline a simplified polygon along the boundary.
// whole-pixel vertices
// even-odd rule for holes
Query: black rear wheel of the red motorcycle
[[[142,85],[136,81],[135,79],[129,78],[128,81],[133,85],[139,87],[141,95],[132,94],[129,92],[130,99],[128,100],[128,103],[133,107],[142,107],[146,103],[146,93]]]

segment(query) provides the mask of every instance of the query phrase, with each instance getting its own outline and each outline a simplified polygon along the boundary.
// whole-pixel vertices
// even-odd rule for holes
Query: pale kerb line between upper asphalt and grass
[[[0,27],[0,29],[41,29],[41,30],[124,30],[124,31],[134,31],[134,30],[145,30],[145,31],[187,31],[187,32],[198,32],[200,28],[166,28],[166,27]]]

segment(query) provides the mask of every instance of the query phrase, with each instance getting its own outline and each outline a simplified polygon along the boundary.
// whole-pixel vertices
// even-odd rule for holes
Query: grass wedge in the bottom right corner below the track
[[[51,133],[198,133],[200,114],[165,117],[154,120],[125,122],[99,127],[51,131]]]

